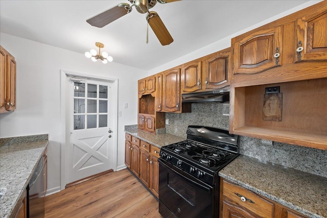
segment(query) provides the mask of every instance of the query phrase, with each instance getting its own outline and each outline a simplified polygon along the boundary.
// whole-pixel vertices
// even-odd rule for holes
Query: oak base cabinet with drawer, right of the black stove
[[[221,217],[307,218],[225,179],[221,187]]]

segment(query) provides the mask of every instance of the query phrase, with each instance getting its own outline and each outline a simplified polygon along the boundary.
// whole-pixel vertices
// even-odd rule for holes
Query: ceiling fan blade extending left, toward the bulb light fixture
[[[128,14],[131,12],[131,10],[132,8],[128,4],[121,3],[110,8],[109,10],[87,19],[86,22],[88,22],[91,26],[102,28],[112,21]]]

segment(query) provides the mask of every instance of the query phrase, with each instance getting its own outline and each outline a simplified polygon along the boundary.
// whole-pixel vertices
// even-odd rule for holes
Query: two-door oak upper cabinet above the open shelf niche
[[[327,77],[327,3],[231,39],[233,86]]]

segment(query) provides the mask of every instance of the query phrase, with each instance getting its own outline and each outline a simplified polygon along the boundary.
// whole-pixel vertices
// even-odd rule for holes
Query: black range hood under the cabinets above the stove
[[[191,102],[229,102],[230,89],[218,89],[182,94],[182,103]]]

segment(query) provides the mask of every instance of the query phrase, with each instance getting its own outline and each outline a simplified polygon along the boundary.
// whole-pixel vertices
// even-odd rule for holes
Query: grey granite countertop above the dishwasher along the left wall
[[[0,138],[0,217],[9,217],[48,145],[48,134]]]

